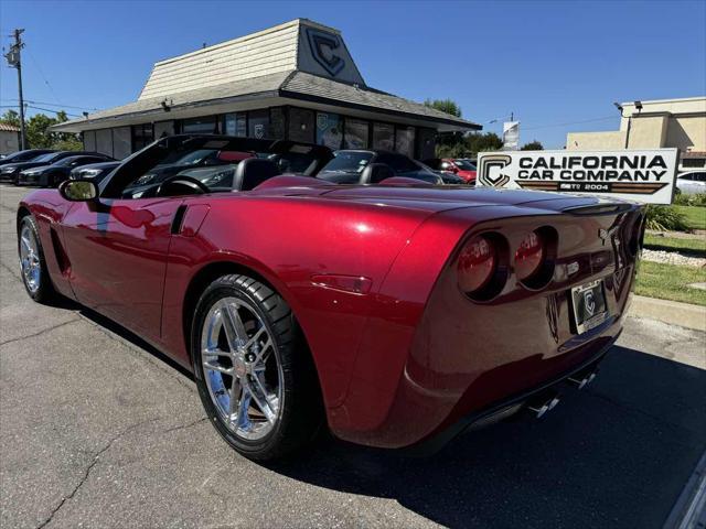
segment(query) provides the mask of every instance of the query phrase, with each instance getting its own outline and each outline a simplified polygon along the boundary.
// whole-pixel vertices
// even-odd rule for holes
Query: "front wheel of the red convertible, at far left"
[[[18,227],[18,253],[20,274],[26,293],[38,303],[50,304],[58,298],[46,268],[44,249],[36,222],[32,215],[20,220]]]

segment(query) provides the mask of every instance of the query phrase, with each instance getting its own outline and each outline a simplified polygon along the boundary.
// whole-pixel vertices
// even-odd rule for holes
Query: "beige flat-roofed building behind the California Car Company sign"
[[[620,130],[569,132],[568,150],[680,150],[680,171],[706,168],[706,97],[654,99],[618,105]]]

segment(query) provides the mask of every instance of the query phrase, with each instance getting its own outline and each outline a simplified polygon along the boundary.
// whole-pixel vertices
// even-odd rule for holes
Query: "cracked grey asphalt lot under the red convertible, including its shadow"
[[[596,381],[541,421],[407,458],[328,440],[229,450],[188,374],[19,279],[0,187],[0,527],[662,527],[706,449],[706,336],[630,317]]]

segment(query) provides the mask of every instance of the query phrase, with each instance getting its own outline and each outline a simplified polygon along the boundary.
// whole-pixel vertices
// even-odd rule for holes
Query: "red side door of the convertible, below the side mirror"
[[[78,301],[159,338],[171,225],[179,197],[79,202],[63,220]]]

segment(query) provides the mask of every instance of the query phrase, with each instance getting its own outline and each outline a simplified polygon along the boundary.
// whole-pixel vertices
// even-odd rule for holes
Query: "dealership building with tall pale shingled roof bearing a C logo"
[[[106,83],[108,79],[106,79]],[[137,101],[54,126],[122,159],[164,136],[223,133],[434,158],[471,121],[365,84],[341,33],[306,19],[160,61]]]

